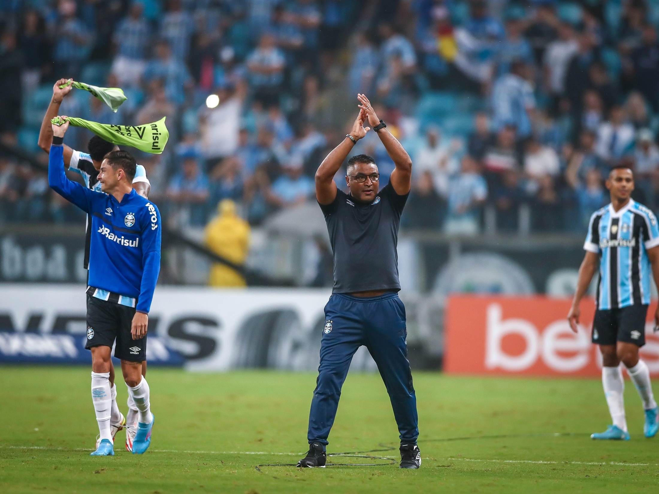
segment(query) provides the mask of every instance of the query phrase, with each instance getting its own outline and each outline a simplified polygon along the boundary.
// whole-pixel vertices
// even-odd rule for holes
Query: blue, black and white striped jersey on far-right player
[[[600,310],[650,303],[652,269],[647,250],[659,245],[659,225],[647,207],[629,200],[590,217],[585,250],[600,254],[597,307]]]

